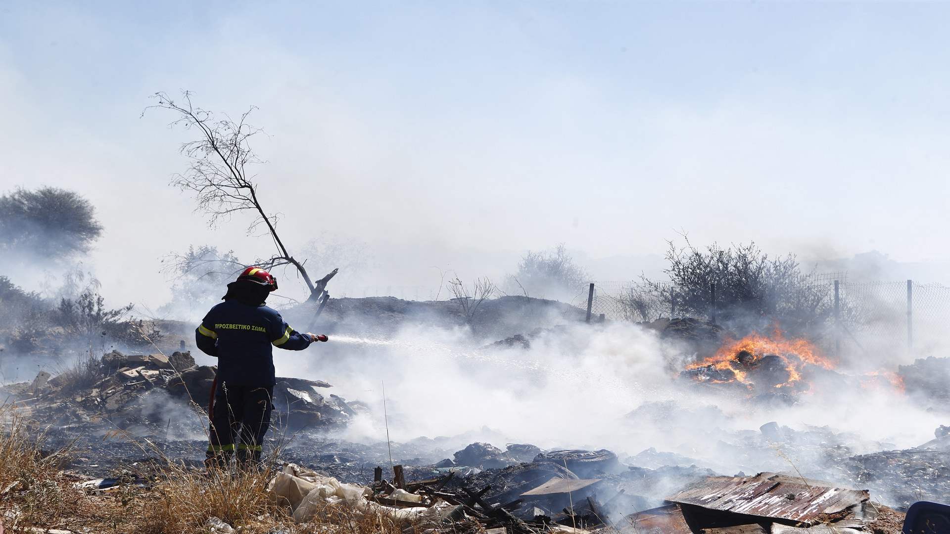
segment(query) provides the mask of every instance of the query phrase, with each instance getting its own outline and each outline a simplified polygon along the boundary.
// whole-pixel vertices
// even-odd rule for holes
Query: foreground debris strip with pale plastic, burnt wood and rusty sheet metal
[[[897,534],[902,526],[902,513],[871,503],[867,490],[769,472],[694,476],[646,508],[625,487],[579,478],[553,462],[493,469],[492,484],[485,484],[487,471],[465,480],[452,471],[409,482],[402,466],[393,467],[391,481],[382,471],[376,467],[375,480],[359,486],[285,464],[268,491],[290,506],[297,523],[314,520],[326,506],[345,506],[429,532]]]

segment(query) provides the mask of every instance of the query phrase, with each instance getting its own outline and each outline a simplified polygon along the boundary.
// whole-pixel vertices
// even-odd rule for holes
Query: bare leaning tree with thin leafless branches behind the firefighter
[[[254,233],[263,226],[266,228],[265,235],[273,240],[276,249],[271,257],[258,258],[255,264],[269,271],[280,266],[293,266],[310,290],[309,300],[325,303],[329,298],[327,283],[337,269],[315,282],[311,279],[304,267],[306,260],[301,261],[292,256],[277,234],[277,215],[264,209],[257,195],[256,175],[248,172],[250,167],[263,162],[254,153],[250,143],[251,138],[261,133],[261,129],[247,122],[256,107],[252,106],[242,113],[237,121],[227,116],[217,119],[214,113],[193,105],[191,94],[182,91],[181,102],[176,102],[167,93],[158,92],[153,96],[158,104],[146,108],[171,110],[178,116],[171,125],[181,125],[198,132],[196,140],[181,145],[181,153],[191,163],[184,173],[175,175],[172,184],[195,195],[197,210],[208,216],[212,226],[217,226],[221,220],[231,219],[237,213],[249,212],[252,219],[248,233]]]

